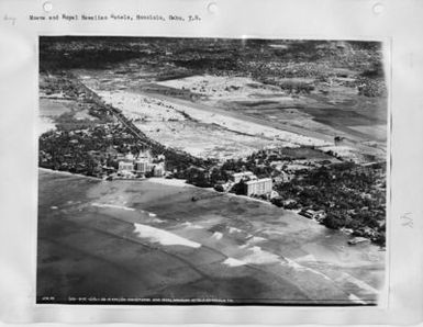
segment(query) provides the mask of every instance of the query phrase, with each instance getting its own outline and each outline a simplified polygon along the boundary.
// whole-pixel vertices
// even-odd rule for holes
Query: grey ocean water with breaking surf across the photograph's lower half
[[[348,236],[267,203],[163,182],[40,170],[37,295],[377,300],[376,246],[349,247]]]

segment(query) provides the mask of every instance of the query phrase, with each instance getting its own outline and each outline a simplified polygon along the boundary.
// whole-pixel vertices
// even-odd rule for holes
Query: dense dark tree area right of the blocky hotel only
[[[349,228],[385,245],[386,168],[352,162],[320,167],[299,173],[289,183],[276,184],[278,206],[325,212],[322,224]]]

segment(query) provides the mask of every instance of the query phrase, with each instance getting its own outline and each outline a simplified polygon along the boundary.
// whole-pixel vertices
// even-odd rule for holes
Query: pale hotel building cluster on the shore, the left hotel
[[[143,177],[164,177],[165,156],[159,155],[156,158],[146,151],[140,154],[136,158],[127,158],[119,161],[118,177],[122,178],[143,178]]]

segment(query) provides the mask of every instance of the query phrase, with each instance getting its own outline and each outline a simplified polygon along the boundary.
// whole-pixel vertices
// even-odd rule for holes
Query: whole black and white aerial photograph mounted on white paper
[[[38,53],[36,303],[381,303],[381,42],[41,36]]]

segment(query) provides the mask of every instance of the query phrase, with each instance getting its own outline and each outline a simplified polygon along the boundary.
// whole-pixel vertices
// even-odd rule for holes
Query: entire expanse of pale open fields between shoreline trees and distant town
[[[135,120],[136,115],[145,117],[138,126],[147,135],[192,155],[216,157],[218,148],[218,157],[236,158],[267,142],[269,147],[333,146],[336,154],[357,162],[386,159],[386,99],[358,95],[355,88],[345,86],[345,78],[333,78],[331,83],[296,77],[279,80],[316,86],[309,94],[292,94],[247,77],[196,75],[154,80],[145,77],[145,65],[136,66],[136,60],[126,65],[132,71],[127,76],[115,74],[123,63],[101,71],[74,71],[108,103]],[[187,124],[180,114],[209,125],[209,144],[202,139],[204,125]],[[378,127],[371,128],[374,125]],[[335,136],[343,144],[333,144]],[[199,143],[188,144],[185,137]],[[240,153],[233,151],[234,142],[242,144]]]

